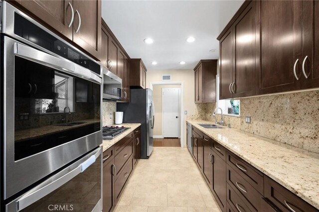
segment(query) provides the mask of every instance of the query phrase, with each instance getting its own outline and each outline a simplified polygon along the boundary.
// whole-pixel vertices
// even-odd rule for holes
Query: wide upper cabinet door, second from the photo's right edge
[[[300,88],[294,76],[301,76],[302,1],[257,1],[256,94],[293,91]],[[258,58],[257,57],[257,58]],[[297,61],[297,62],[296,62]]]

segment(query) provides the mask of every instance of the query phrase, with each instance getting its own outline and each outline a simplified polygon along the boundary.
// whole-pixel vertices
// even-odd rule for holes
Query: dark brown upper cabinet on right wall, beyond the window
[[[195,71],[195,103],[216,102],[217,60],[200,60]]]

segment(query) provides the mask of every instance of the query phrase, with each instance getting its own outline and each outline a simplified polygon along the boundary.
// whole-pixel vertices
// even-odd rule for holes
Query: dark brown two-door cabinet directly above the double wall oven
[[[100,0],[8,1],[65,37],[95,59],[101,58]]]

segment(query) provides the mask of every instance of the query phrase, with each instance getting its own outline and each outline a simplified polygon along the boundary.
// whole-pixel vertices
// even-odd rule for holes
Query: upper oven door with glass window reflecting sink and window
[[[102,143],[102,79],[9,37],[1,45],[7,199]]]

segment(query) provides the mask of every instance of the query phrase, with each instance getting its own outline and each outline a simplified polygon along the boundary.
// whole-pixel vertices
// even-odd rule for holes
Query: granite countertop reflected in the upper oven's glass
[[[100,119],[85,119],[85,120],[76,120],[73,122],[78,122],[78,121],[83,121],[85,123],[77,124],[73,126],[59,126],[57,124],[53,124],[53,125],[46,125],[46,126],[41,126],[41,127],[31,128],[31,129],[16,130],[14,132],[14,140],[23,141],[26,139],[33,139],[33,138],[41,137],[41,136],[52,134],[52,133],[62,132],[62,131],[77,128],[77,127],[82,127],[92,123],[98,123],[101,120]]]

